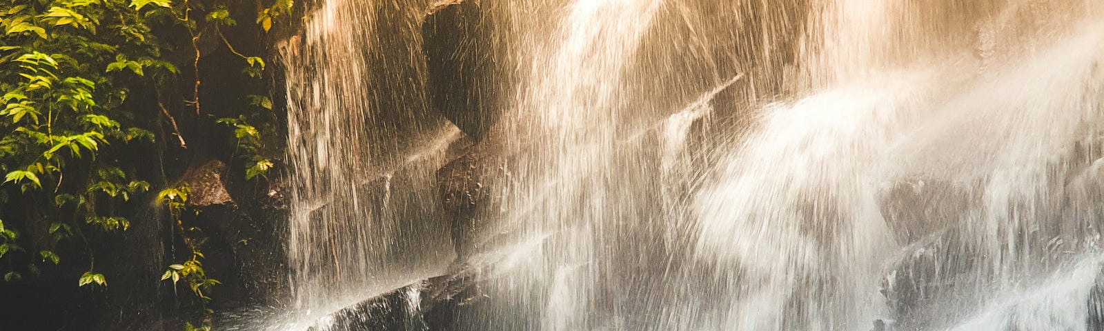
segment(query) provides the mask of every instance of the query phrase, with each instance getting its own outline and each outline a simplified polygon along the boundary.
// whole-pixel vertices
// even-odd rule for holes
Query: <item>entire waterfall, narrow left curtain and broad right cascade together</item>
[[[1100,328],[1104,3],[767,2],[481,1],[509,161],[463,330]],[[425,73],[370,55],[421,8],[285,51],[300,309],[443,258],[457,132],[385,120],[431,111],[373,71]]]

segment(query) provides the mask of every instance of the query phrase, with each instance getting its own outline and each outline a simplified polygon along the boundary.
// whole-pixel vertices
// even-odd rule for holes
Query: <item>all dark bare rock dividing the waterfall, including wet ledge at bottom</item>
[[[311,331],[457,330],[459,319],[478,307],[475,275],[467,259],[496,215],[493,192],[507,175],[505,140],[493,137],[500,117],[490,107],[490,43],[485,17],[475,1],[447,0],[432,6],[422,26],[433,106],[477,143],[436,173],[439,199],[450,224],[456,260],[448,275],[424,279],[369,298],[316,322]],[[500,137],[499,137],[500,138]]]

